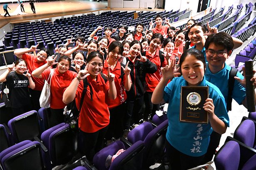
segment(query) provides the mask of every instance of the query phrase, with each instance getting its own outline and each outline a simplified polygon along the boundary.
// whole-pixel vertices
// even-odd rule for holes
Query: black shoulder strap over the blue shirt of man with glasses
[[[231,110],[231,103],[232,103],[232,94],[233,94],[233,89],[234,89],[234,83],[235,83],[235,76],[237,73],[237,69],[231,67],[231,70],[229,72],[229,91],[228,91],[228,98],[227,98],[227,106],[226,109],[227,111]]]

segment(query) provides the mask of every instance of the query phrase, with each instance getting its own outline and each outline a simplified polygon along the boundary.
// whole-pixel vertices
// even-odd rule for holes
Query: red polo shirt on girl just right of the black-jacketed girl
[[[161,63],[161,60],[159,57],[159,49],[157,49],[153,57],[149,55],[148,51],[146,51],[145,56],[149,59],[149,61],[157,65],[157,71],[155,73],[146,73],[146,85],[147,85],[146,91],[153,92],[162,78],[162,73],[160,68],[165,67],[167,65],[167,60],[166,58],[164,58],[164,62]]]

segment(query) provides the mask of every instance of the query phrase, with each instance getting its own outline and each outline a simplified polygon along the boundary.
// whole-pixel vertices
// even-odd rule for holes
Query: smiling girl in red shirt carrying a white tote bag
[[[56,56],[57,57],[57,56]],[[49,57],[47,63],[32,72],[32,75],[37,78],[44,78],[48,80],[50,76],[50,66],[55,64],[55,58]],[[63,90],[71,83],[71,81],[77,76],[77,73],[70,71],[71,59],[68,56],[60,57],[57,68],[53,69],[51,80],[51,102],[50,110],[51,114],[49,119],[49,127],[55,126],[64,122],[63,110],[66,106],[62,102]],[[50,82],[48,82],[50,83]]]

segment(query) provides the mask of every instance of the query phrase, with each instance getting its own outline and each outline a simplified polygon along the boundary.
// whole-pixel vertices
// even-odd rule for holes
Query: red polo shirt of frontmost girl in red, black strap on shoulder
[[[108,98],[109,82],[105,83],[101,75],[97,75],[96,81],[91,76],[87,77],[88,86],[82,104],[78,126],[86,133],[94,133],[109,124],[109,109],[106,100]],[[92,101],[90,88],[92,87]],[[80,108],[80,101],[84,83],[81,81],[77,87],[75,95],[77,108]]]

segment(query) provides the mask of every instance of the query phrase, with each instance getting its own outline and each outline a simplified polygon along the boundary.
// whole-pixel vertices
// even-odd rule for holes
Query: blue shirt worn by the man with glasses
[[[224,68],[220,70],[218,73],[211,73],[211,70],[209,69],[209,65],[206,66],[205,71],[205,78],[207,81],[213,83],[216,85],[219,90],[221,91],[222,95],[225,98],[225,102],[227,102],[228,98],[228,92],[229,92],[229,73],[230,73],[231,67],[224,65]],[[244,76],[238,71],[236,73],[236,76],[240,79],[244,79]],[[238,104],[241,104],[242,101],[246,97],[246,89],[237,81],[234,82],[234,89],[232,93],[232,98],[236,100]]]

